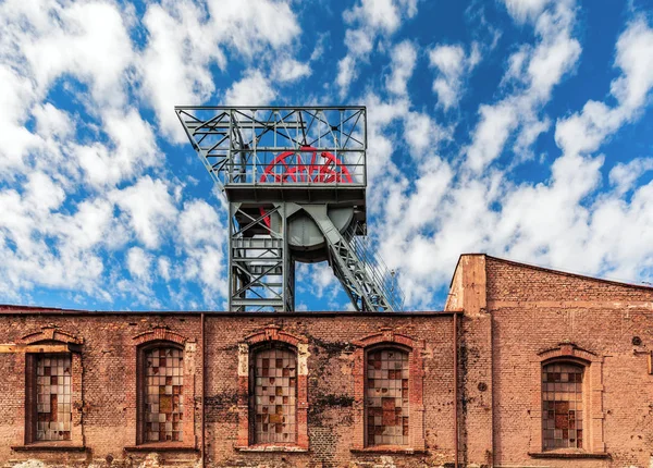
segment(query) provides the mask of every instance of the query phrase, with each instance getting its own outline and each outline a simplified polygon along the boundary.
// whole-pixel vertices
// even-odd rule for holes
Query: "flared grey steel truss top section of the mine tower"
[[[312,148],[333,153],[352,174],[347,187],[365,186],[367,119],[364,107],[175,107],[188,139],[213,181],[232,185],[278,184],[280,173],[264,175],[279,153]],[[280,165],[292,171],[306,164],[297,153]],[[284,185],[338,185],[338,182],[282,180]],[[344,185],[344,184],[343,184]]]

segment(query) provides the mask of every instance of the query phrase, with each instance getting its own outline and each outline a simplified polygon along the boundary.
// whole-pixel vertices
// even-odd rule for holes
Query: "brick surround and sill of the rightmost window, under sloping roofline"
[[[531,387],[530,447],[533,458],[605,458],[606,453],[603,421],[603,356],[582,349],[572,343],[560,343],[557,347],[539,353],[530,361]],[[542,428],[542,371],[544,366],[567,362],[583,366],[583,447],[544,449]]]

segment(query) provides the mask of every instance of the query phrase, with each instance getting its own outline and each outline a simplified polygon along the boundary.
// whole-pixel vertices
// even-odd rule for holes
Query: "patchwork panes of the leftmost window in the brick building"
[[[36,440],[71,440],[72,366],[70,356],[36,358]]]

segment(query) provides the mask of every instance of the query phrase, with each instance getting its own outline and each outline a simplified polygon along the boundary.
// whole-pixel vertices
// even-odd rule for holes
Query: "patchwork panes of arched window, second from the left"
[[[184,355],[174,347],[145,353],[145,440],[182,442]]]

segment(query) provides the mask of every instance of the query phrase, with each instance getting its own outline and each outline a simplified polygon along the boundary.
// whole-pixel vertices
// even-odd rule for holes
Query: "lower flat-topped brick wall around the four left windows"
[[[136,444],[136,345],[144,332],[167,328],[186,340],[185,366],[194,368],[185,387],[195,392],[196,446],[200,441],[201,340],[200,317],[184,313],[2,313],[0,343],[54,324],[83,341],[82,420],[85,452],[24,452],[17,415],[24,407],[24,354],[0,353],[0,459],[37,458],[72,465],[113,460],[114,465],[143,460],[148,452],[126,451]],[[308,341],[307,453],[252,453],[236,449],[238,434],[238,344],[246,337],[278,325]],[[164,330],[164,329],[159,329]],[[379,454],[352,452],[355,396],[354,342],[389,331],[423,345],[423,406],[426,452]],[[423,466],[453,461],[453,349],[451,315],[366,316],[206,316],[206,446],[207,466],[349,466],[380,463],[391,457],[396,466]],[[189,344],[188,344],[189,343]],[[188,389],[188,390],[190,390]],[[184,433],[184,445],[193,444]],[[15,447],[17,451],[10,447]],[[162,463],[198,459],[198,452],[161,452]],[[387,458],[385,458],[387,460]],[[120,465],[118,465],[120,466]]]

